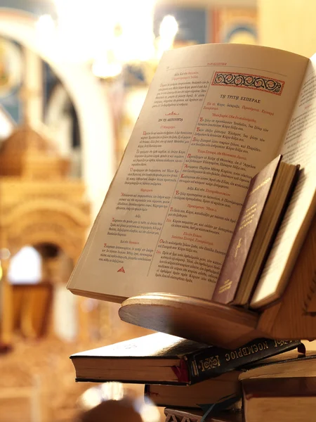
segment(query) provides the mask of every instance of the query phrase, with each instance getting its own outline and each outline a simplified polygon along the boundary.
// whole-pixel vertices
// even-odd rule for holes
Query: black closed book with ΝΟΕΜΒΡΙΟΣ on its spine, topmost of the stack
[[[72,354],[77,381],[143,384],[199,383],[258,362],[301,342],[258,338],[235,350],[204,345],[165,333]]]

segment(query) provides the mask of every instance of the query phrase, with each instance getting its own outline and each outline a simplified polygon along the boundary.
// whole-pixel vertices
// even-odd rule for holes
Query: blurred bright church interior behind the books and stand
[[[166,49],[311,56],[310,0],[0,0],[0,422],[164,421],[142,385],[75,383],[70,354],[149,333],[65,285]],[[126,410],[127,409],[127,410]],[[100,420],[107,420],[100,418]]]

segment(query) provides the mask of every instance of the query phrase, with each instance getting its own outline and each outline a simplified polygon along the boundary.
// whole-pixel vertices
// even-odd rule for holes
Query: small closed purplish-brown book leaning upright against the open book
[[[247,305],[294,188],[298,166],[275,158],[251,179],[212,300]]]

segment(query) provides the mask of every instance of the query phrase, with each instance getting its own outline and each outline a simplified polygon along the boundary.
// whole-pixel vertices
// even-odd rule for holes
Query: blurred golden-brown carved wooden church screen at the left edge
[[[90,206],[84,184],[68,178],[68,168],[69,162],[53,143],[28,124],[1,143],[0,250],[8,250],[13,257],[23,246],[32,245],[39,249],[45,270],[51,257],[42,246],[53,245],[73,265],[77,262],[91,224]],[[10,257],[1,261],[0,343],[4,344],[11,343],[14,324],[9,264]],[[84,313],[80,306],[78,312]]]

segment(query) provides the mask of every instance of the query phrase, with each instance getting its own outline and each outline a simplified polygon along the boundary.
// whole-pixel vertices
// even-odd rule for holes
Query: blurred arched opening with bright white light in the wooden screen
[[[73,260],[51,243],[23,246],[11,257],[13,331],[25,338],[77,337],[76,298],[65,289],[73,267]]]

